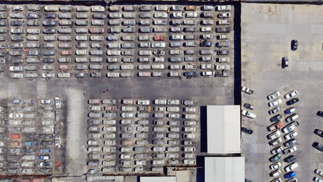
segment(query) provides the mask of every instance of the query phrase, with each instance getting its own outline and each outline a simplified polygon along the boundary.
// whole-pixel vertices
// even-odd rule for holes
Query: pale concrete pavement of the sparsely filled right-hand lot
[[[257,16],[256,16],[257,15]],[[257,115],[255,119],[242,117],[242,126],[252,129],[253,134],[242,133],[243,155],[246,157],[246,179],[251,181],[272,181],[277,177],[269,174],[268,159],[273,156],[271,150],[283,143],[284,134],[280,136],[282,143],[275,147],[268,144],[269,134],[266,129],[273,123],[270,121],[275,114],[282,114],[284,127],[284,110],[295,107],[298,114],[296,121],[300,123],[295,131],[297,151],[295,162],[298,167],[293,170],[298,181],[312,181],[315,169],[322,169],[322,154],[312,147],[313,142],[322,143],[322,138],[314,134],[316,128],[322,128],[322,118],[316,115],[322,110],[322,11],[317,6],[302,5],[260,5],[242,4],[242,85],[254,90],[248,95],[242,93],[242,104],[255,105],[251,110]],[[251,19],[252,17],[252,19]],[[291,40],[298,40],[297,50],[291,50]],[[282,68],[282,57],[288,57],[288,68]],[[251,61],[253,60],[253,61]],[[295,98],[300,99],[294,105],[286,105],[284,94],[297,90]],[[280,91],[282,99],[281,111],[268,114],[269,102],[266,97]],[[275,99],[274,99],[275,100]],[[280,152],[282,154],[282,152]],[[290,154],[282,154],[279,160],[282,166],[280,179],[287,172],[283,161]]]

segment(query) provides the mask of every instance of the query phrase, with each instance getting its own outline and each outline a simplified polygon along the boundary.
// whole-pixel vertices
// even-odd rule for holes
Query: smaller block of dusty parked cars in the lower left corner
[[[37,110],[37,106],[41,106],[41,110]],[[40,101],[34,99],[12,99],[10,101],[8,108],[10,110],[10,114],[8,114],[8,131],[10,132],[8,138],[10,141],[7,143],[6,159],[3,158],[3,163],[0,164],[3,169],[6,169],[3,172],[6,174],[52,173],[54,165],[52,151],[54,148],[60,148],[60,137],[54,134],[54,124],[57,119],[58,121],[60,119],[55,110],[57,111],[59,108],[61,108],[59,97],[41,99]],[[42,116],[40,122],[35,122],[39,120],[37,119],[38,112],[43,115],[40,114]],[[23,121],[25,119],[26,121]],[[12,128],[16,130],[12,130]],[[17,130],[18,128],[22,128],[22,130]],[[22,135],[21,132],[25,132],[26,135]]]

